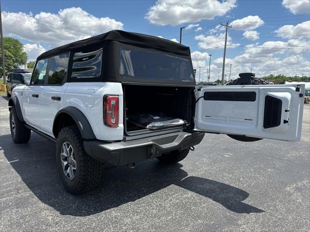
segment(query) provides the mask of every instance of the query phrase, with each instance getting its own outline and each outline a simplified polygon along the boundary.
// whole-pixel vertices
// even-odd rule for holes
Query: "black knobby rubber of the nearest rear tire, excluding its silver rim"
[[[64,142],[69,142],[72,145],[77,162],[76,174],[72,180],[65,176],[62,168],[61,151]],[[59,132],[56,144],[56,161],[64,187],[70,193],[83,194],[99,186],[103,164],[87,155],[77,126],[64,127]]]

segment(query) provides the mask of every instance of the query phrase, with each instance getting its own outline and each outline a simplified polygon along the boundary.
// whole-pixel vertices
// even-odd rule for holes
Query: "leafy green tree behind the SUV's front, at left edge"
[[[26,64],[28,56],[27,53],[24,52],[23,44],[19,40],[11,37],[3,37],[3,47],[6,73],[11,72],[14,68],[18,68]],[[0,63],[2,63],[1,56]],[[2,68],[0,75],[2,76]]]

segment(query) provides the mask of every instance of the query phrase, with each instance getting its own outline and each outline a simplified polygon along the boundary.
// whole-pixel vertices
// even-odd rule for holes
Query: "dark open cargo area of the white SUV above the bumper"
[[[195,110],[194,87],[123,85],[123,91],[126,135],[169,130],[172,121],[186,121],[185,124],[176,125],[173,128],[191,127]],[[164,121],[160,122],[160,128],[151,130],[145,128],[145,124],[141,125],[132,120],[132,118],[141,118],[145,115],[151,116],[147,122],[155,125],[157,120],[160,120],[159,117]]]

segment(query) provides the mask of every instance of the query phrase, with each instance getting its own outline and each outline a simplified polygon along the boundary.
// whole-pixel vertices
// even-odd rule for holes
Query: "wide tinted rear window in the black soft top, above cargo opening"
[[[120,74],[126,78],[193,82],[188,59],[159,52],[121,49]]]

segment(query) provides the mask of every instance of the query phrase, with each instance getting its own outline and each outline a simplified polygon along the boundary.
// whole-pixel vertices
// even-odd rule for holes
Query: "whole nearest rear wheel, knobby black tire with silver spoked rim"
[[[87,155],[77,126],[64,127],[56,145],[58,171],[64,187],[72,194],[82,194],[100,184],[102,163]]]

